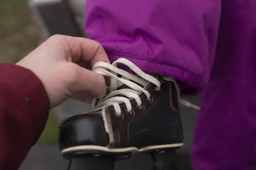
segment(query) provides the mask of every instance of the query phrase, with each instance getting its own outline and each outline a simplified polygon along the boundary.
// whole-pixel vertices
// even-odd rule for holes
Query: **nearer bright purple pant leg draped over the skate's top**
[[[148,73],[201,92],[209,80],[220,19],[216,1],[89,0],[86,32],[111,61],[125,57]]]

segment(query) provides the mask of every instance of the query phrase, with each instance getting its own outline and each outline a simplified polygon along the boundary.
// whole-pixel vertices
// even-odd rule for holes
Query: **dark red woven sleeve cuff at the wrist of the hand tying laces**
[[[39,78],[23,67],[0,64],[0,169],[19,168],[48,113],[49,99]]]

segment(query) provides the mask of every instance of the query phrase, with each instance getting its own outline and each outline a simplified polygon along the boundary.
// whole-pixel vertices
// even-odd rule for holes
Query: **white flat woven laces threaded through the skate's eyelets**
[[[135,76],[127,71],[117,68],[117,63],[126,65],[140,77]],[[106,71],[104,69],[99,69],[97,67],[107,68],[110,70],[110,72]],[[114,61],[112,63],[112,65],[109,63],[106,63],[106,62],[97,62],[92,66],[92,70],[98,74],[101,74],[104,76],[110,76],[111,84],[110,84],[110,87],[108,87],[108,90],[110,91],[110,93],[108,95],[106,95],[103,99],[101,99],[97,103],[95,108],[93,110],[91,110],[90,112],[99,111],[99,110],[102,110],[106,106],[113,105],[114,110],[116,112],[116,116],[118,118],[120,118],[120,117],[122,117],[122,115],[121,115],[121,108],[118,103],[124,102],[126,105],[126,108],[127,108],[127,112],[130,113],[132,111],[132,107],[131,107],[131,102],[130,102],[129,98],[134,98],[135,102],[138,104],[139,108],[142,108],[142,102],[139,97],[139,93],[144,93],[147,97],[147,100],[149,102],[151,101],[151,96],[150,96],[149,92],[146,91],[145,89],[143,89],[142,87],[140,87],[138,84],[141,84],[143,87],[145,87],[148,82],[151,82],[156,85],[156,88],[155,88],[156,91],[160,90],[161,82],[157,78],[144,73],[139,67],[137,67],[135,64],[133,64],[132,62],[130,62],[128,59],[125,59],[125,58],[118,58],[116,61]],[[122,77],[117,77],[117,74],[122,75]],[[170,78],[166,78],[166,80],[169,80],[169,79]],[[130,80],[132,80],[138,84],[136,84]],[[126,84],[131,89],[117,90],[119,87],[123,86],[124,84]],[[118,96],[118,95],[120,95],[120,96]],[[125,96],[125,97],[121,97],[121,96]],[[193,107],[196,109],[198,109],[198,108],[200,109],[200,107],[198,107],[198,106],[194,107],[195,105],[189,103],[186,100],[182,100],[179,98],[179,101],[181,102],[181,104],[183,104],[187,107]]]

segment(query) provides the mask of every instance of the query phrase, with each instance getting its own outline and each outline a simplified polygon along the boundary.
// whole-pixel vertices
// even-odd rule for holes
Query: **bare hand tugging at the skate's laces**
[[[38,76],[52,108],[70,97],[88,103],[93,97],[104,97],[105,79],[91,71],[91,66],[98,61],[109,63],[104,48],[98,42],[53,35],[17,65]]]

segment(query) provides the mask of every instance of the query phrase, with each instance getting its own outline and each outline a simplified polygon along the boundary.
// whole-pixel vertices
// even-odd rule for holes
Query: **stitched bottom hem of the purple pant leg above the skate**
[[[143,58],[143,57],[134,56],[130,54],[108,53],[108,52],[107,54],[111,63],[117,60],[118,58],[121,58],[121,57],[126,58],[130,60],[132,63],[134,63],[136,66],[138,66],[140,69],[145,71],[146,73],[159,74],[161,76],[170,76],[180,81],[184,81],[188,83],[192,88],[194,88],[196,93],[201,93],[205,87],[205,83],[203,82],[201,77],[183,68],[157,63],[148,58]],[[130,71],[130,70],[127,70],[127,71]]]

